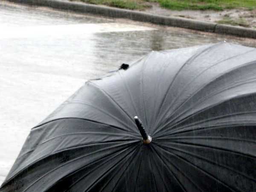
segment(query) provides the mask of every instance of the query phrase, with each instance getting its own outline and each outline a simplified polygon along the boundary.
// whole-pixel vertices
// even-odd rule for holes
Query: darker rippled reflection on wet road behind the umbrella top
[[[219,41],[256,47],[256,41],[227,35],[192,32],[179,28],[161,28],[151,31],[96,33],[92,41],[94,62],[107,72],[121,63],[132,63],[151,50],[177,49]]]

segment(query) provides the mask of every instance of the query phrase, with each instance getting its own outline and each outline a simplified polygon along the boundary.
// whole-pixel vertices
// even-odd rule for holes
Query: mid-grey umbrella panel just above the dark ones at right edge
[[[216,79],[207,86],[201,88],[201,90],[198,90],[197,93],[190,96],[182,103],[182,105],[175,109],[175,113],[169,114],[169,116],[162,121],[162,126],[173,122],[174,120],[179,121],[180,119],[184,119],[190,114],[211,108],[212,106],[218,105],[221,102],[229,101],[236,96],[250,95],[255,93],[256,79],[253,73],[250,73],[255,72],[255,64],[256,63],[253,63],[251,66],[248,66],[248,71],[243,69],[237,70],[237,73],[233,73],[233,77],[236,78],[230,78],[229,73],[227,73],[227,79],[222,76],[221,78]],[[242,74],[246,75],[240,75],[241,71],[245,72]],[[230,107],[226,106],[226,108]],[[229,113],[227,110],[223,110],[223,112],[225,111],[226,113]]]

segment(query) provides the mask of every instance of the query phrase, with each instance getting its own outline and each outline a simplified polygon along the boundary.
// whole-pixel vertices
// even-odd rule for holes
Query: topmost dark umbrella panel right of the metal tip
[[[248,89],[249,90],[249,89]],[[256,93],[235,97],[233,99],[192,111],[183,119],[169,122],[164,129],[155,133],[155,137],[168,136],[193,129],[244,126],[256,124]],[[193,108],[191,108],[193,110]],[[251,139],[254,135],[249,134]]]

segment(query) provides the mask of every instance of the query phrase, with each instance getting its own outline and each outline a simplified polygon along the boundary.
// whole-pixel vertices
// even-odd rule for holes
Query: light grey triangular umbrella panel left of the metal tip
[[[63,118],[87,119],[123,128],[129,132],[133,132],[130,124],[135,125],[134,121],[127,116],[126,111],[122,110],[111,96],[90,82],[81,87],[40,125]]]

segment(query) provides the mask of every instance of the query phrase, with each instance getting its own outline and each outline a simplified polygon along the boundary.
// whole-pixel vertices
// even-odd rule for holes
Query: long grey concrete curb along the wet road
[[[245,38],[256,38],[256,30],[244,27],[229,26],[200,20],[192,20],[180,17],[166,17],[152,15],[148,13],[118,9],[106,6],[90,5],[79,2],[70,2],[65,0],[7,0],[14,3],[24,3],[33,6],[47,6],[53,9],[68,10],[78,13],[89,13],[94,15],[103,15],[106,17],[125,18],[135,21],[154,23],[166,26],[182,27],[204,32],[213,32],[218,34],[236,35]]]

